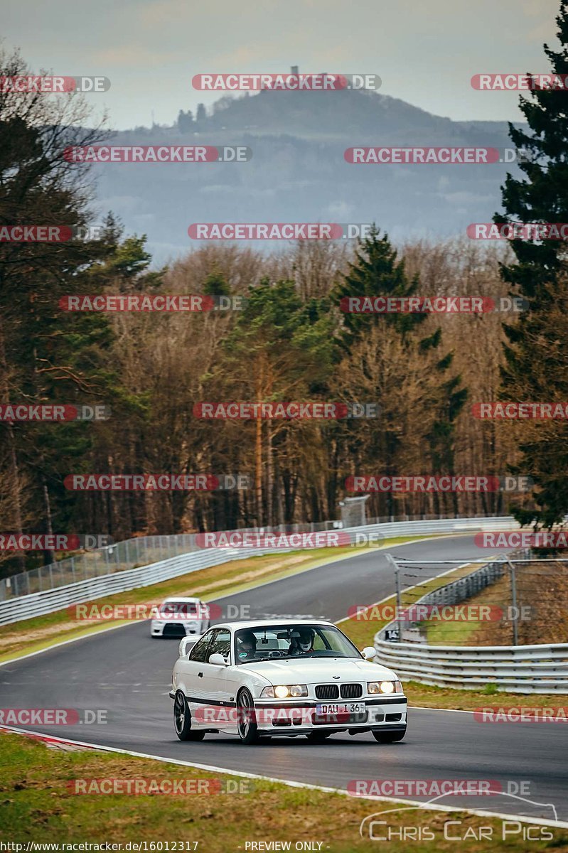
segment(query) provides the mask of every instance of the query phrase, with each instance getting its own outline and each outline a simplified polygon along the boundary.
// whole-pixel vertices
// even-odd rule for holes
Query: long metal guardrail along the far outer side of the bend
[[[466,533],[481,530],[513,530],[519,525],[511,516],[500,518],[478,517],[473,519],[432,519],[427,521],[385,522],[375,525],[351,527],[348,532],[351,541],[357,542],[357,535],[364,537],[422,536],[430,533]],[[265,531],[268,532],[268,531]],[[177,537],[160,537],[164,540],[174,540]],[[166,543],[167,544],[167,543]],[[287,550],[293,550],[288,548]],[[333,555],[333,548],[330,548]],[[278,553],[283,553],[279,549]],[[269,554],[270,548],[204,548],[192,550],[186,554],[160,560],[148,566],[125,569],[112,574],[90,577],[77,583],[68,583],[54,589],[44,589],[31,595],[20,595],[0,601],[0,625],[20,622],[34,616],[55,612],[72,604],[81,604],[114,593],[126,592],[129,589],[151,586],[153,583],[179,577],[189,572],[197,572],[209,566],[217,566],[229,560],[243,560],[246,557]]]

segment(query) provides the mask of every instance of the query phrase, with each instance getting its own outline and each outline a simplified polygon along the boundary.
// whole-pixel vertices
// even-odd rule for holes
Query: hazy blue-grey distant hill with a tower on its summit
[[[455,122],[374,92],[271,92],[221,98],[190,129],[136,128],[114,144],[247,145],[246,163],[97,164],[101,212],[148,234],[159,263],[200,245],[195,222],[372,222],[397,241],[487,222],[516,166],[350,165],[351,146],[511,147],[507,123]],[[256,244],[274,250],[274,242]]]

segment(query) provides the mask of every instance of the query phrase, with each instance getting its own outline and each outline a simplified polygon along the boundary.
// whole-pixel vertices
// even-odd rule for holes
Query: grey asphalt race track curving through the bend
[[[393,553],[423,560],[479,557],[470,536],[408,544]],[[484,552],[487,554],[490,551]],[[440,566],[440,572],[448,568]],[[347,615],[349,606],[380,601],[393,592],[385,551],[369,551],[218,602],[248,605],[252,618],[302,614],[336,621]],[[177,640],[151,639],[144,622],[5,664],[0,668],[0,705],[107,709],[106,725],[29,728],[71,740],[322,786],[345,788],[356,779],[492,780],[517,797],[461,796],[438,802],[548,820],[554,820],[554,810],[548,805],[553,804],[558,820],[568,821],[568,727],[561,723],[482,723],[472,713],[417,708],[409,712],[405,740],[392,745],[376,743],[371,734],[335,734],[322,745],[298,737],[241,746],[236,738],[216,734],[206,735],[201,743],[181,742],[174,733],[168,697],[177,645]],[[488,697],[486,704],[499,705],[498,696]],[[557,704],[564,704],[562,697]],[[524,789],[519,789],[521,783]],[[369,804],[369,813],[383,808],[389,808],[388,804]]]

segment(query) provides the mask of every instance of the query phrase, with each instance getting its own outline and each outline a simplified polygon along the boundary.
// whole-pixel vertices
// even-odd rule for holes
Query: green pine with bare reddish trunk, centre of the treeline
[[[293,281],[262,279],[249,288],[244,309],[223,343],[213,386],[217,383],[223,388],[224,384],[225,399],[313,401],[333,374],[332,324],[329,306],[317,305],[316,300],[303,303]],[[302,464],[289,448],[298,450],[298,445],[315,442],[318,427],[311,422],[258,419],[233,428],[241,431],[235,444],[246,445],[247,438],[254,437],[255,524],[275,523],[281,491],[284,513],[290,513],[286,521],[291,520],[293,506],[289,506],[287,494],[309,485],[290,485],[298,479]],[[222,445],[225,454],[226,444]]]

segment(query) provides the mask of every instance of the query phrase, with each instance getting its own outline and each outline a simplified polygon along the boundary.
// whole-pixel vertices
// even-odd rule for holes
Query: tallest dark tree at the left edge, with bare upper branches
[[[26,73],[18,54],[0,51],[0,76]],[[89,186],[84,173],[61,152],[69,144],[101,141],[101,131],[85,130],[86,118],[81,102],[73,99],[61,105],[43,96],[0,95],[0,225],[38,223],[84,232],[92,216]],[[119,396],[110,319],[66,312],[60,299],[100,292],[90,271],[109,265],[130,270],[125,254],[112,217],[101,240],[73,236],[62,242],[0,243],[3,401],[108,404]],[[88,421],[0,424],[0,446],[8,447],[13,484],[11,525],[18,531],[49,532],[51,526],[56,532],[69,531],[78,502],[64,489],[63,479],[78,460],[89,465],[95,435],[96,425]],[[26,518],[20,506],[24,482]],[[0,519],[3,527],[7,522]],[[53,554],[46,553],[45,559],[53,560]]]

